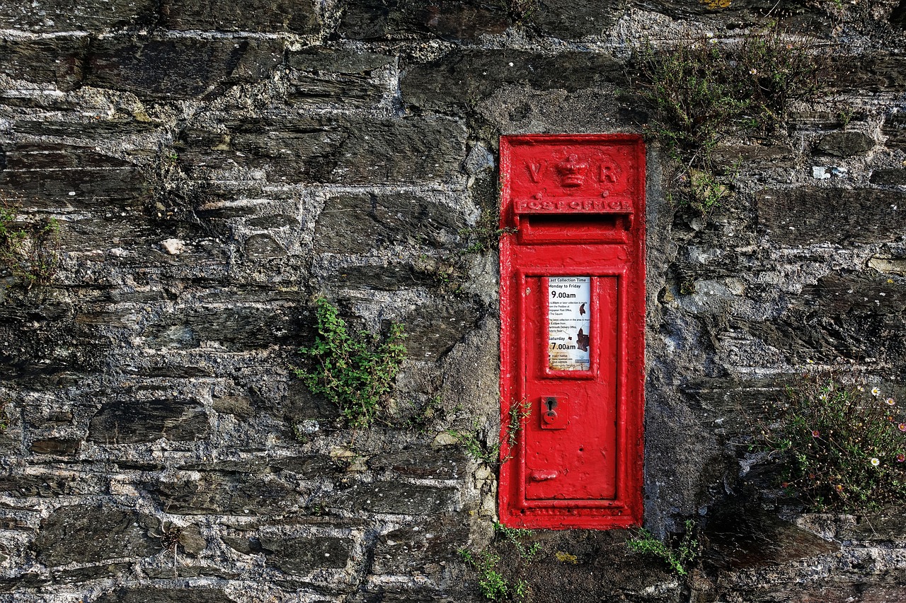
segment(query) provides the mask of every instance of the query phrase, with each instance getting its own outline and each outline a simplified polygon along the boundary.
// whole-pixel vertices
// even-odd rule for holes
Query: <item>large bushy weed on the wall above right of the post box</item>
[[[774,131],[791,101],[818,90],[822,62],[803,38],[776,28],[636,53],[631,80],[649,109],[646,131],[680,167],[670,198],[702,215],[726,199],[732,175],[716,167],[715,149],[729,137]]]

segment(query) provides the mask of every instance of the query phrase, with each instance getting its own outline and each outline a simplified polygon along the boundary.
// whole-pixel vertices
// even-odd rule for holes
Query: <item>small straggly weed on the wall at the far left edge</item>
[[[19,224],[18,209],[0,193],[0,265],[27,289],[49,284],[60,264],[60,224],[54,218]]]

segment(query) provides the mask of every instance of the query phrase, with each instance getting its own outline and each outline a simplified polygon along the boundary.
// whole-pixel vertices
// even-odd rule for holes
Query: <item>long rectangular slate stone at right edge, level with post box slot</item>
[[[906,229],[906,194],[874,189],[800,187],[757,194],[758,224],[776,244],[893,241]]]

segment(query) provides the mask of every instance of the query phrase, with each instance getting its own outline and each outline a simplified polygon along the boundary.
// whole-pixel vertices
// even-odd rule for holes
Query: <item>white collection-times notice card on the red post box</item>
[[[589,370],[592,277],[552,276],[547,289],[548,367]]]

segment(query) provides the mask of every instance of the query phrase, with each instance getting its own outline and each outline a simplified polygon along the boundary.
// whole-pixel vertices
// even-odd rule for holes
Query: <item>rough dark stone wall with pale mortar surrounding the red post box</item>
[[[698,518],[702,569],[626,531],[500,548],[531,601],[901,600],[901,513],[759,498],[741,445],[809,361],[906,399],[897,0],[0,0],[0,188],[62,238],[52,284],[3,280],[0,600],[480,600],[495,468],[447,430],[498,429],[496,254],[465,249],[498,137],[641,131],[633,47],[768,20],[833,64],[718,149],[734,196],[671,206],[649,146],[646,525]],[[291,376],[319,295],[406,326],[370,429]]]

